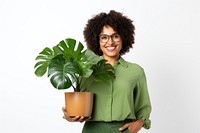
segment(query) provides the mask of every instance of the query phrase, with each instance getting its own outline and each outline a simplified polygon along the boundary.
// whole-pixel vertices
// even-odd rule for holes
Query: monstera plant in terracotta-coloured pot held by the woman
[[[44,48],[35,60],[36,76],[47,73],[51,84],[58,90],[73,88],[74,92],[65,92],[65,107],[69,116],[91,116],[94,94],[85,92],[81,88],[83,84],[114,78],[112,65],[72,38],[60,41],[53,48]],[[80,101],[77,101],[79,98]]]

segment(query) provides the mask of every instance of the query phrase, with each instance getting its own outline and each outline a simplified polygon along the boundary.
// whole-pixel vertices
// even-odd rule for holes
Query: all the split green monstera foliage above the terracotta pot
[[[71,38],[60,41],[52,49],[44,48],[36,60],[35,74],[41,77],[47,73],[57,89],[73,87],[74,91],[79,91],[80,77],[93,77],[97,81],[114,77],[113,68],[106,60],[89,49],[84,50],[81,42]],[[78,83],[76,87],[75,82]]]

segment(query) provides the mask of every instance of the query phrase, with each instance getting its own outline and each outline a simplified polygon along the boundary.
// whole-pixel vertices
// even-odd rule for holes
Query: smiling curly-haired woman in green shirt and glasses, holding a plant
[[[132,20],[114,10],[88,20],[84,29],[87,47],[114,67],[116,78],[85,86],[95,93],[91,118],[70,118],[63,109],[68,121],[85,121],[82,133],[137,133],[142,127],[150,128],[151,104],[144,70],[121,57],[134,44],[134,30]]]

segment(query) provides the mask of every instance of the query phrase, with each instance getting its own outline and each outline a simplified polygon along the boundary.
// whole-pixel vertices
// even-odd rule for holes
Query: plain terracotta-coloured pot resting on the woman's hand
[[[91,117],[94,93],[65,92],[65,108],[69,116]]]

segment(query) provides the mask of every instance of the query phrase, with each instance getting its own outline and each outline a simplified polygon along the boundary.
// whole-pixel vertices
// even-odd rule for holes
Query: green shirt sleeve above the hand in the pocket
[[[134,103],[137,119],[142,119],[144,121],[143,127],[149,129],[151,126],[149,117],[152,107],[147,89],[146,76],[143,70],[136,84],[136,88],[134,89]]]

